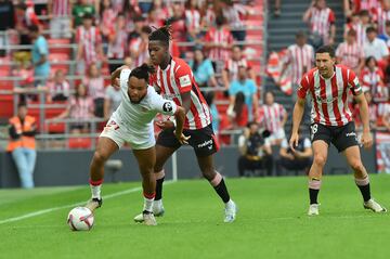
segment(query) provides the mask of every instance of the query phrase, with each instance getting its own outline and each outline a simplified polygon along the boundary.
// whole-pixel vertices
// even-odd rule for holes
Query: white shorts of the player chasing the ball
[[[104,137],[113,140],[119,148],[122,147],[125,142],[129,143],[133,150],[147,150],[156,144],[153,126],[146,130],[134,131],[118,124],[118,121],[120,120],[112,116],[100,138]]]

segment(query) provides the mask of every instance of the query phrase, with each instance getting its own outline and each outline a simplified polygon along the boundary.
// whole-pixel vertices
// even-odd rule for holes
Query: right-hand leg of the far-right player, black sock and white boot
[[[354,179],[359,190],[362,193],[364,208],[372,209],[375,212],[385,212],[386,208],[380,206],[370,196],[369,177],[363,166],[360,150],[358,145],[350,146],[343,151],[347,161],[354,171]]]

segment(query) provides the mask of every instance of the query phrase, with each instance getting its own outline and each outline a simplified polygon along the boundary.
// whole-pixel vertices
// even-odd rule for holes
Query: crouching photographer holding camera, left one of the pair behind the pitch
[[[272,176],[273,158],[271,144],[266,134],[259,132],[259,125],[249,122],[244,133],[238,138],[238,176],[245,177],[245,171],[250,170],[252,176],[259,169],[265,169],[266,176]]]

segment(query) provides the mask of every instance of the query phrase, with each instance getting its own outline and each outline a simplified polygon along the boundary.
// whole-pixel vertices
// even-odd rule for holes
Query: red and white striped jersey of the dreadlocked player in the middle
[[[191,92],[191,108],[186,114],[184,128],[203,129],[211,124],[210,109],[195,82],[188,64],[178,57],[172,57],[165,69],[157,67],[151,77],[151,85],[160,89],[165,99],[172,100],[183,106],[181,93]]]

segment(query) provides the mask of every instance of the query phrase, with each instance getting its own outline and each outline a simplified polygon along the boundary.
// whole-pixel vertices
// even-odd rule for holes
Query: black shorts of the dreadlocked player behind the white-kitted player
[[[179,148],[181,144],[176,138],[173,130],[174,129],[162,130],[158,134],[156,144],[166,147]],[[188,139],[188,144],[194,148],[196,156],[209,156],[219,150],[219,144],[212,131],[211,124],[203,129],[184,129],[183,133],[191,137]]]

